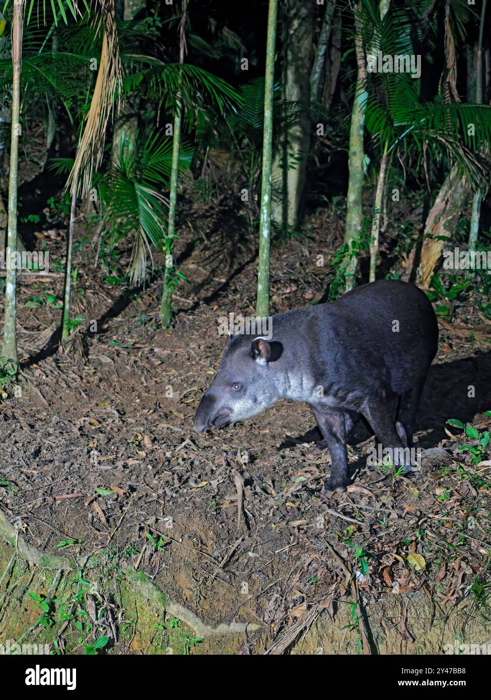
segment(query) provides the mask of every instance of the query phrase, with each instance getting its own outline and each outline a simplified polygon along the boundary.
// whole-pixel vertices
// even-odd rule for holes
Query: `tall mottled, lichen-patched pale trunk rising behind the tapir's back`
[[[354,6],[357,13],[358,5]],[[357,84],[354,92],[353,108],[350,125],[350,151],[348,166],[348,193],[346,202],[346,225],[344,243],[347,247],[345,254],[345,291],[354,287],[358,267],[358,248],[363,225],[363,185],[364,185],[364,127],[366,98],[366,62],[361,38],[360,21],[355,14],[356,37],[354,40],[357,54]]]

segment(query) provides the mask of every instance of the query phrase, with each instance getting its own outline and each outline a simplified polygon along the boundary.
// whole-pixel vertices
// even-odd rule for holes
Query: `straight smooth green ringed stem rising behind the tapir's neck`
[[[275,44],[278,0],[270,0],[268,38],[266,40],[266,75],[264,87],[263,173],[261,179],[261,213],[259,223],[258,288],[256,316],[270,312],[270,232],[271,232],[271,165],[272,165],[272,102],[275,83]]]

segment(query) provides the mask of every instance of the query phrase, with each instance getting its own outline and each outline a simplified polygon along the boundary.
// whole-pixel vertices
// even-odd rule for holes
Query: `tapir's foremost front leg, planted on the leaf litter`
[[[329,454],[331,454],[331,475],[322,486],[322,495],[330,498],[333,493],[343,493],[347,486],[348,458],[346,452],[345,414],[324,407],[311,406]]]

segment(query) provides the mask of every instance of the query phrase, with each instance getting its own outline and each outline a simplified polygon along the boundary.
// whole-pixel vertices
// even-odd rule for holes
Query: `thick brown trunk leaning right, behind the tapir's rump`
[[[457,165],[454,165],[441,186],[424,225],[420,267],[417,270],[417,283],[423,289],[429,288],[445,243],[452,239],[469,195],[469,183]]]

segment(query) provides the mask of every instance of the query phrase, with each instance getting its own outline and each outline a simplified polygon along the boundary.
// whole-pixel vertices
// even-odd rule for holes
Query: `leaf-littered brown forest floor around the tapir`
[[[314,215],[305,237],[272,246],[272,311],[321,299],[327,274],[317,255],[331,258],[340,230],[335,212]],[[62,233],[44,240],[56,272]],[[452,323],[441,323],[418,415],[418,445],[427,448],[420,472],[367,468],[373,438],[360,426],[350,446],[352,484],[325,503],[319,491],[330,459],[309,454],[319,436],[305,405],[282,401],[234,427],[193,432],[225,344],[219,316],[254,314],[254,238],[220,207],[191,211],[178,244],[191,285],[177,288],[170,330],[156,324],[158,276],[122,291],[95,270],[84,241],[76,246],[74,298],[87,322],[65,351],[53,343],[61,272],[25,274],[19,283],[23,369],[1,410],[0,505],[41,552],[85,557],[76,591],[105,601],[106,617],[118,622],[114,651],[165,652],[168,638],[155,641],[164,628],[181,630],[174,653],[193,654],[413,654],[491,643],[482,587],[490,580],[489,448],[474,463],[459,449],[478,446],[491,428],[491,330],[471,295],[452,309]],[[91,319],[96,332],[85,331]],[[479,437],[448,419],[471,423]],[[74,572],[53,582],[18,562],[20,585],[10,556],[0,556],[0,642],[16,630],[33,640],[43,628],[67,653],[80,652],[97,629],[109,629],[92,617],[90,631],[81,599],[67,603]],[[256,629],[198,642],[167,616],[153,621],[145,646],[136,633],[142,610],[121,595],[129,567],[206,624]],[[35,598],[48,601],[48,622],[39,624]]]

